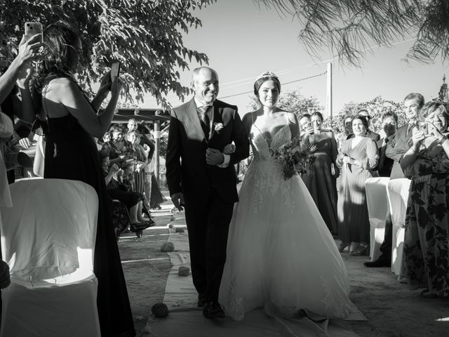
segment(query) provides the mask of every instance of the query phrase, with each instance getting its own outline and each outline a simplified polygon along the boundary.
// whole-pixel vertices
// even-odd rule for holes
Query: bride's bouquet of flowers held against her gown
[[[302,146],[299,137],[273,150],[272,157],[281,162],[285,180],[292,178],[297,172],[306,173],[315,160],[311,148]]]

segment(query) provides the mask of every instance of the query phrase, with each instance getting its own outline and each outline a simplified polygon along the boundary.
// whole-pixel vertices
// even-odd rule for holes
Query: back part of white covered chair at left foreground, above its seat
[[[1,209],[1,253],[11,282],[32,288],[93,275],[98,195],[78,180],[27,179],[10,185]]]

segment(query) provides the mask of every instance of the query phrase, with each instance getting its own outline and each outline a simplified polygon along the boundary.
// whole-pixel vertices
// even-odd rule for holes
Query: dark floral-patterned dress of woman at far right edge
[[[404,173],[412,180],[404,237],[410,287],[449,296],[449,159],[434,140]]]

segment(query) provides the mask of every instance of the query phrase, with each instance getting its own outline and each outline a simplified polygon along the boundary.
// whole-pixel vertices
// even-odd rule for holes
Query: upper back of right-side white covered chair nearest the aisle
[[[388,177],[368,178],[365,181],[368,217],[385,220],[388,209]]]

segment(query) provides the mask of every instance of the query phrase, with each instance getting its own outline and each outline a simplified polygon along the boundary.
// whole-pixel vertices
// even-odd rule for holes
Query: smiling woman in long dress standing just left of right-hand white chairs
[[[372,138],[366,136],[368,121],[363,116],[352,119],[354,138],[345,140],[337,157],[337,165],[342,169],[339,208],[338,234],[342,239],[339,251],[349,246],[354,256],[368,252],[370,225],[366,206],[365,181],[372,178],[377,165],[377,146]]]

